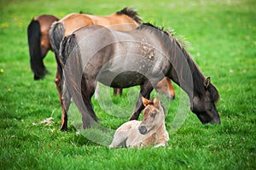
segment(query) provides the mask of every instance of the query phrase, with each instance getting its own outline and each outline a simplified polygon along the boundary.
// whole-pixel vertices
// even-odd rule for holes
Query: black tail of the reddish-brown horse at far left
[[[30,54],[30,66],[34,73],[34,80],[39,80],[44,78],[47,70],[43,62],[41,28],[38,20],[32,20],[27,26],[27,39]]]

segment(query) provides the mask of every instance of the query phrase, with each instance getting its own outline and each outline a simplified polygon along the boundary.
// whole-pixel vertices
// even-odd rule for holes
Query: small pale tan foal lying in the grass
[[[143,121],[132,120],[121,125],[113,136],[109,148],[164,146],[169,140],[165,112],[158,98],[143,98]]]

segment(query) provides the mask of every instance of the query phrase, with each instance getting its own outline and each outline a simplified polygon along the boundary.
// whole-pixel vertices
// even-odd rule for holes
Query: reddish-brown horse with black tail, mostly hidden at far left
[[[27,39],[30,54],[30,65],[34,73],[34,80],[44,78],[47,70],[43,59],[49,50],[49,28],[51,24],[59,20],[54,15],[42,14],[33,18],[27,26]]]

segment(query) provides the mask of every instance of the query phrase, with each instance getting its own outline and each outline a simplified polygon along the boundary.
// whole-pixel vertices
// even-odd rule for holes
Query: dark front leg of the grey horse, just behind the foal
[[[141,85],[140,94],[139,94],[139,97],[137,99],[135,110],[134,110],[133,114],[130,117],[130,121],[138,119],[138,116],[140,115],[141,111],[143,111],[143,109],[144,109],[142,96],[146,99],[149,99],[150,93],[152,92],[153,89],[154,88],[153,88],[151,82],[149,82],[149,81],[144,82],[143,85]]]

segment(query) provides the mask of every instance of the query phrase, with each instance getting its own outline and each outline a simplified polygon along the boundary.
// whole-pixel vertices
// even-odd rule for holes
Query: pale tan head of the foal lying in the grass
[[[143,110],[143,121],[138,127],[138,130],[140,133],[146,134],[152,129],[160,127],[165,122],[166,116],[158,98],[142,99],[145,109]]]

